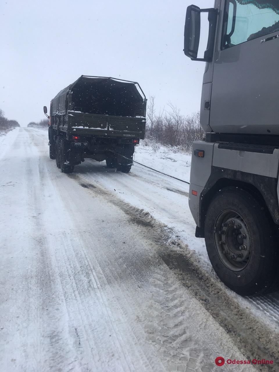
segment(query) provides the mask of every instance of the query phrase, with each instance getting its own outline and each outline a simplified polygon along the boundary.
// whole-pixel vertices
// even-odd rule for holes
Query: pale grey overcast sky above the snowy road
[[[83,74],[138,81],[157,111],[169,100],[199,110],[205,64],[183,53],[192,3],[214,1],[1,0],[0,108],[21,126],[44,119],[43,106]]]

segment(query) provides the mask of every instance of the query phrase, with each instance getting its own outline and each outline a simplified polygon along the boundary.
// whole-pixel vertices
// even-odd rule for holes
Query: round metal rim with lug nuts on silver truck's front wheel
[[[219,214],[214,224],[217,253],[229,269],[243,270],[251,256],[251,237],[244,219],[235,211]]]

